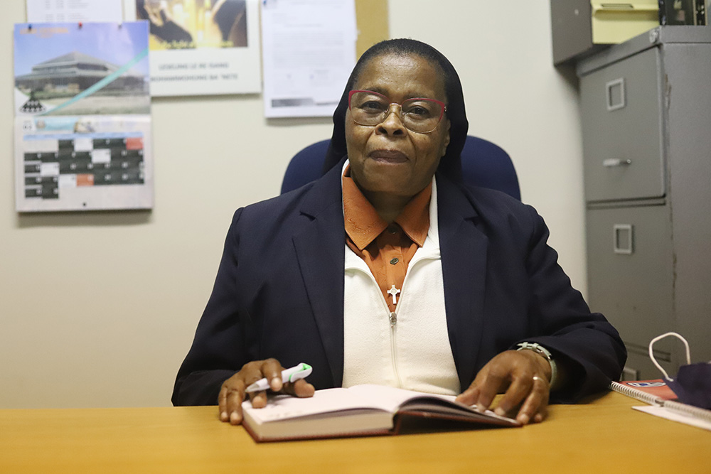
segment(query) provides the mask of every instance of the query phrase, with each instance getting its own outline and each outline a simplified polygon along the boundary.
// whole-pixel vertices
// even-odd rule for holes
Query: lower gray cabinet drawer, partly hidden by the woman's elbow
[[[603,313],[625,343],[645,348],[673,330],[668,205],[589,209],[587,248],[590,308]]]

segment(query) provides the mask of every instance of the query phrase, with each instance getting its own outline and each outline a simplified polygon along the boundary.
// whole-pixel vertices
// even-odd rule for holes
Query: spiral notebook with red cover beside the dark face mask
[[[610,388],[650,405],[633,406],[635,410],[711,431],[711,410],[678,402],[662,379],[612,382]]]

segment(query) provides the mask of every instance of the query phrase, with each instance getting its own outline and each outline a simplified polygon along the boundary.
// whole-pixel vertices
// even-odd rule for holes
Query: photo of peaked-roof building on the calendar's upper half
[[[18,25],[14,50],[16,114],[150,113],[143,22]]]

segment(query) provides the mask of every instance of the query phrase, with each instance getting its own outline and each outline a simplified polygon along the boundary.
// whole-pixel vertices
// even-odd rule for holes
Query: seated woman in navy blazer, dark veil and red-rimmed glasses
[[[459,394],[522,423],[621,373],[624,345],[570,286],[528,205],[461,183],[467,122],[447,58],[413,40],[358,60],[333,115],[323,178],[237,210],[174,404],[245,387],[375,383]],[[309,382],[284,384],[306,362]],[[264,406],[265,392],[250,394]],[[515,410],[515,411],[513,411]]]

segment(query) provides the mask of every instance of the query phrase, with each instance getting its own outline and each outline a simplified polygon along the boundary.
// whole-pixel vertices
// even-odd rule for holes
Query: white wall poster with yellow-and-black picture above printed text
[[[150,23],[151,95],[262,90],[257,0],[127,0]]]

